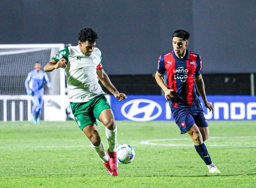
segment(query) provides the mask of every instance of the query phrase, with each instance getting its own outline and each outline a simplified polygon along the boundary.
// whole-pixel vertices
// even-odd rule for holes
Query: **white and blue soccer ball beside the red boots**
[[[116,148],[118,161],[122,164],[128,164],[133,161],[135,157],[135,151],[128,144],[119,145]]]

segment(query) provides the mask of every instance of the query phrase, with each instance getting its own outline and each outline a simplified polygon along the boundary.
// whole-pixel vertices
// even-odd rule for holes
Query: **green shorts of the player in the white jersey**
[[[104,94],[84,103],[70,102],[70,106],[75,116],[75,121],[81,130],[87,125],[97,125],[96,119],[99,120],[100,113],[105,109],[111,108]]]

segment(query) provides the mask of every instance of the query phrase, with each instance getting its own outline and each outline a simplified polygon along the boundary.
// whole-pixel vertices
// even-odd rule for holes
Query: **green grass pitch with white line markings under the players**
[[[110,176],[75,121],[1,122],[0,187],[256,187],[256,121],[210,121],[210,174],[174,122],[117,121],[117,145],[136,151]],[[98,129],[108,149],[104,126]]]

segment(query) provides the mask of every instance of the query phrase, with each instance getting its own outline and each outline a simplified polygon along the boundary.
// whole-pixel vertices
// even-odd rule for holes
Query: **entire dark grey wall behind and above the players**
[[[204,73],[256,73],[255,1],[230,2],[6,0],[0,43],[76,45],[79,30],[93,27],[109,75],[149,75],[160,54],[172,50],[171,34],[183,28]]]

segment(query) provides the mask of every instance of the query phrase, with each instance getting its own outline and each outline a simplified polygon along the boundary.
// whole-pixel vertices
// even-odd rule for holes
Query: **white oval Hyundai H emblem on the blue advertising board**
[[[146,106],[139,107],[141,103],[147,104]],[[156,112],[157,111],[157,112]],[[148,99],[134,99],[125,103],[121,112],[125,118],[132,121],[151,121],[160,116],[162,108],[155,101]],[[155,112],[155,113],[154,113]],[[138,114],[144,114],[142,117],[135,117]],[[140,115],[141,116],[141,115]]]

